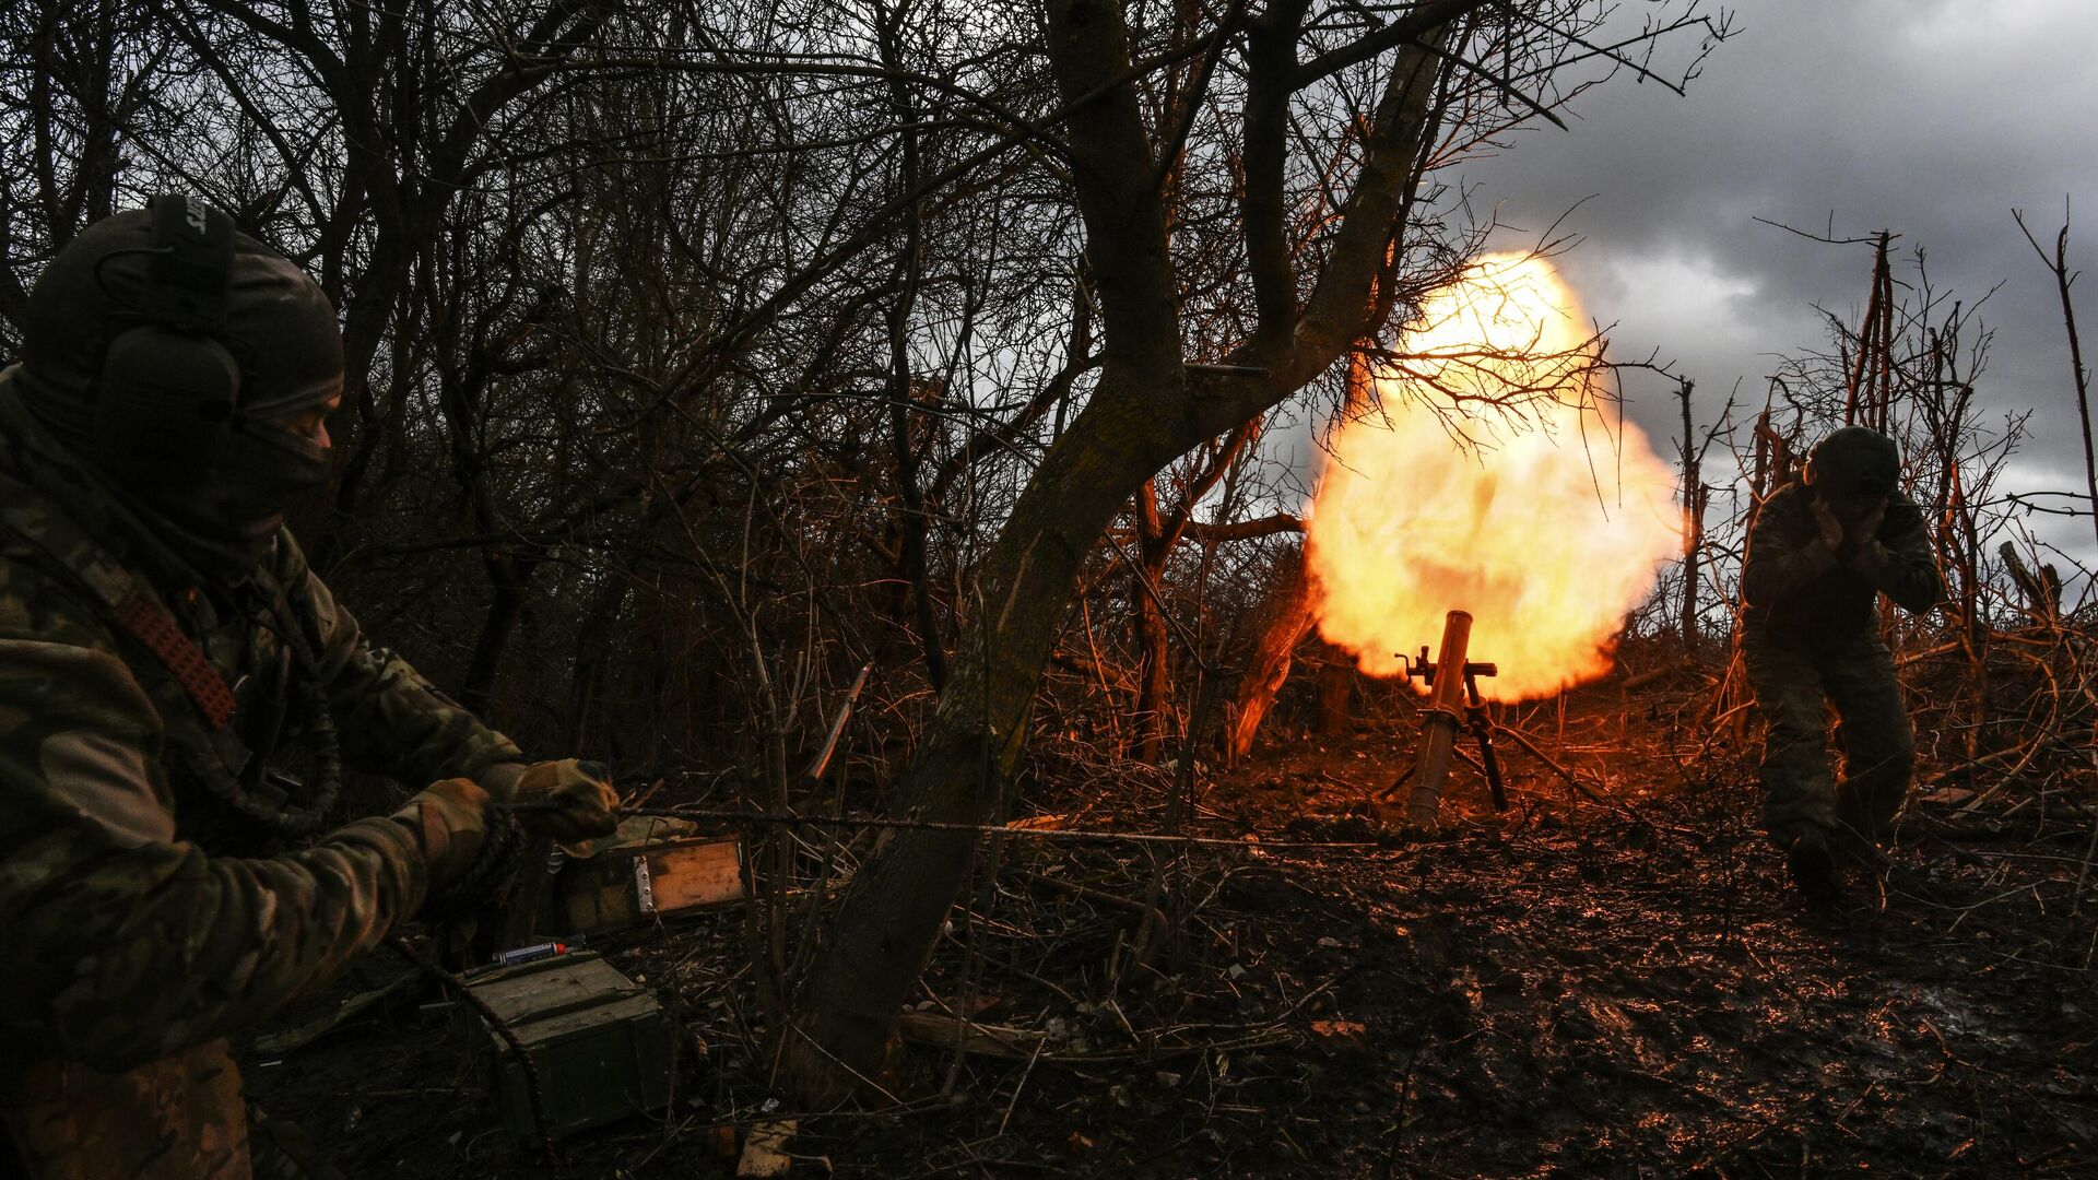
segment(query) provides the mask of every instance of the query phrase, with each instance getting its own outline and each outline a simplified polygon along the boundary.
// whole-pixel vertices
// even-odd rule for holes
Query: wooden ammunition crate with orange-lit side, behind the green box
[[[554,878],[556,930],[594,934],[743,901],[743,842],[703,836],[608,848]]]

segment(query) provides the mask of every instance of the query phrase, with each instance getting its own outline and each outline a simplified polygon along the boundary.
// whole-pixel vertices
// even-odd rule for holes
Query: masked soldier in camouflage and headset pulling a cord
[[[231,241],[220,315],[155,313],[155,283],[197,275],[153,271],[164,229],[117,214],[50,262],[25,361],[0,372],[6,1176],[290,1170],[264,1134],[250,1146],[229,1033],[468,873],[491,800],[543,800],[520,819],[560,840],[608,831],[617,806],[598,768],[527,764],[306,569],[281,525],[327,475],[334,309],[216,210],[178,212]],[[157,439],[189,437],[195,403],[151,401],[155,349],[218,344],[237,370],[222,445],[172,454]],[[111,401],[117,384],[145,401]],[[279,773],[287,752],[304,783]],[[344,760],[426,789],[336,825]]]

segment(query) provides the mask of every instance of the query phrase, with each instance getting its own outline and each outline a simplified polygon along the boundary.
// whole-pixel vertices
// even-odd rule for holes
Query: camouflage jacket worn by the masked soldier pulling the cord
[[[233,729],[275,708],[279,638],[212,596],[145,580],[151,542],[52,443],[0,374],[0,1111],[40,1176],[105,1176],[99,1140],[159,1134],[243,1176],[227,1033],[325,987],[426,892],[415,836],[359,819],[271,848],[180,773],[189,701],[107,611],[151,584],[235,689]],[[86,571],[86,575],[84,575]],[[279,533],[287,590],[352,766],[422,787],[520,762],[516,745],[373,647]],[[101,584],[101,586],[97,586]],[[281,712],[281,710],[279,710]],[[227,1111],[231,1102],[231,1111]],[[130,1132],[124,1123],[134,1123]],[[80,1159],[67,1163],[65,1153]],[[216,1155],[214,1155],[216,1153]],[[0,1142],[0,1170],[6,1144]],[[44,1155],[48,1159],[36,1159]],[[237,1159],[235,1159],[237,1157]],[[159,1174],[159,1172],[143,1172]]]

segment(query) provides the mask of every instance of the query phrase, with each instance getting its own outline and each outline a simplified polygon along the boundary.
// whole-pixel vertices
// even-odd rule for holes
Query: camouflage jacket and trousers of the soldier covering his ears
[[[1741,653],[1762,750],[1764,829],[1779,848],[1842,827],[1878,840],[1901,808],[1915,733],[1894,659],[1880,638],[1878,598],[1922,613],[1939,600],[1939,569],[1922,510],[1899,491],[1876,538],[1848,559],[1821,544],[1804,485],[1758,510],[1741,563]],[[1844,781],[1827,760],[1827,705],[1840,718]]]

